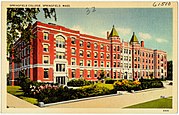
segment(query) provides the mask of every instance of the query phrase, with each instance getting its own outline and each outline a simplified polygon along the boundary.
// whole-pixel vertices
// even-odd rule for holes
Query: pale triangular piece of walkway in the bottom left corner
[[[7,106],[9,108],[38,108],[38,106],[35,106],[9,93],[7,93]]]

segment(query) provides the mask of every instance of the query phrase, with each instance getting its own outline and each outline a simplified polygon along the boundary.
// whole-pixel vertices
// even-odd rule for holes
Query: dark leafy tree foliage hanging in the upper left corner
[[[37,20],[37,14],[41,12],[39,8],[7,8],[7,56],[12,53],[13,43],[17,38],[28,42],[32,35],[33,20]],[[54,8],[43,8],[45,18],[56,18]],[[16,52],[14,52],[15,54]]]

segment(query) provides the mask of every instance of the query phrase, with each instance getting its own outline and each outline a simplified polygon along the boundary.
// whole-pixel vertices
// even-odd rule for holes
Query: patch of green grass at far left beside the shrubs
[[[38,104],[37,99],[24,96],[24,92],[21,90],[20,86],[7,86],[7,92],[34,105]]]

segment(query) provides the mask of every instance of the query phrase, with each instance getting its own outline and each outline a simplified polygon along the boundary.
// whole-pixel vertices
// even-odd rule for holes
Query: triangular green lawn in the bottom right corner
[[[172,97],[157,99],[125,108],[172,108]]]

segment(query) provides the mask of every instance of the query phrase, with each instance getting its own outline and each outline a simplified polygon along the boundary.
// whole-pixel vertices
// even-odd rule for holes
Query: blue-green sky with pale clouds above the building
[[[55,23],[81,33],[106,39],[106,32],[114,25],[124,41],[130,41],[135,32],[139,41],[145,41],[145,47],[164,50],[168,60],[172,59],[173,18],[171,8],[96,8],[87,15],[86,8],[58,8],[57,21],[45,19],[38,14],[38,20]]]

